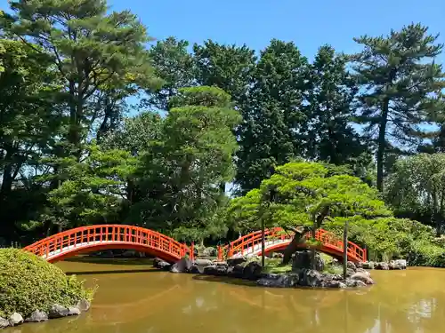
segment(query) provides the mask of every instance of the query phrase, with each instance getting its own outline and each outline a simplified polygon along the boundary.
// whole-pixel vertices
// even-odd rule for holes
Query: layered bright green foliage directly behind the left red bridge
[[[125,198],[125,178],[135,169],[134,158],[122,150],[102,150],[95,144],[85,150],[85,159],[59,158],[57,175],[42,181],[60,182],[48,194],[48,208],[41,220],[60,226],[85,226],[115,221]]]

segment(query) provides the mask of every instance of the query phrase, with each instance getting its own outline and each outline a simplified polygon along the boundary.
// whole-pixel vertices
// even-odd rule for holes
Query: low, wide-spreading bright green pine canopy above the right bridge
[[[263,180],[259,189],[231,201],[228,218],[237,228],[250,230],[258,229],[258,216],[267,214],[268,226],[292,230],[295,226],[312,226],[326,207],[330,208],[331,223],[342,218],[391,216],[376,190],[360,178],[329,172],[332,169],[320,163],[279,166],[270,179]],[[271,189],[275,193],[272,199]],[[268,202],[271,203],[264,204]]]

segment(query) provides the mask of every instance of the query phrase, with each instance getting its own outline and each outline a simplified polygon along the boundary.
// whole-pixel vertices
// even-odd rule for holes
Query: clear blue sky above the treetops
[[[4,0],[0,0],[4,1]],[[113,0],[114,10],[130,9],[158,39],[177,36],[191,43],[211,38],[261,50],[271,38],[294,41],[310,59],[321,44],[339,52],[360,48],[354,36],[387,34],[422,22],[445,43],[443,0]],[[441,57],[441,62],[445,59]]]

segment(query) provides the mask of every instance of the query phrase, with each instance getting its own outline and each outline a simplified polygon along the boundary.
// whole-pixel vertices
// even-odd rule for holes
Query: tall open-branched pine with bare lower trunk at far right
[[[434,58],[441,53],[437,36],[428,28],[410,24],[389,36],[361,36],[363,45],[352,56],[361,89],[357,122],[376,139],[377,188],[384,187],[384,159],[387,147],[411,150],[427,136],[421,125],[439,108],[437,96],[445,86],[441,65]]]

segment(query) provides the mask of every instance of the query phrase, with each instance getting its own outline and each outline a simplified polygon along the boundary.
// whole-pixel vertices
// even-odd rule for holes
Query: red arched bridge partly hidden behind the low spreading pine
[[[285,250],[292,241],[293,234],[287,234],[282,228],[272,228],[265,230],[265,253]],[[306,239],[310,239],[311,234],[306,234]],[[315,248],[320,252],[327,253],[332,257],[343,259],[344,243],[324,229],[318,229],[315,233],[315,239],[318,244],[308,245],[302,243],[303,248]],[[262,252],[262,234],[261,231],[246,234],[230,244],[218,248],[218,258],[240,258],[245,256],[258,256]],[[348,260],[352,262],[363,262],[367,260],[367,250],[353,242],[348,242]]]

